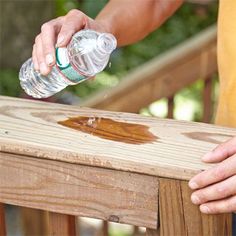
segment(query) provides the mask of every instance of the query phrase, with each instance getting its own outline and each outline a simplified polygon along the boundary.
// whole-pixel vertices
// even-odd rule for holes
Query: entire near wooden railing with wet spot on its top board
[[[203,215],[188,180],[235,129],[0,97],[0,202],[50,212],[49,235],[75,216],[147,235],[230,235],[230,214]],[[0,208],[4,235],[4,212]]]

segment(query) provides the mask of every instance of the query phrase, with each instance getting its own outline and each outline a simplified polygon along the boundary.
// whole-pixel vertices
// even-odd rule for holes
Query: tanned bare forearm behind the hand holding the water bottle
[[[143,39],[182,4],[182,0],[111,0],[97,16],[123,46]]]

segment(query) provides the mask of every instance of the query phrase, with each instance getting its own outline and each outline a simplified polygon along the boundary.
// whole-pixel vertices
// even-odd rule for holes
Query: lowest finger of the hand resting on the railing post
[[[200,211],[205,214],[232,213],[236,211],[236,196],[223,200],[213,201],[200,206]]]

